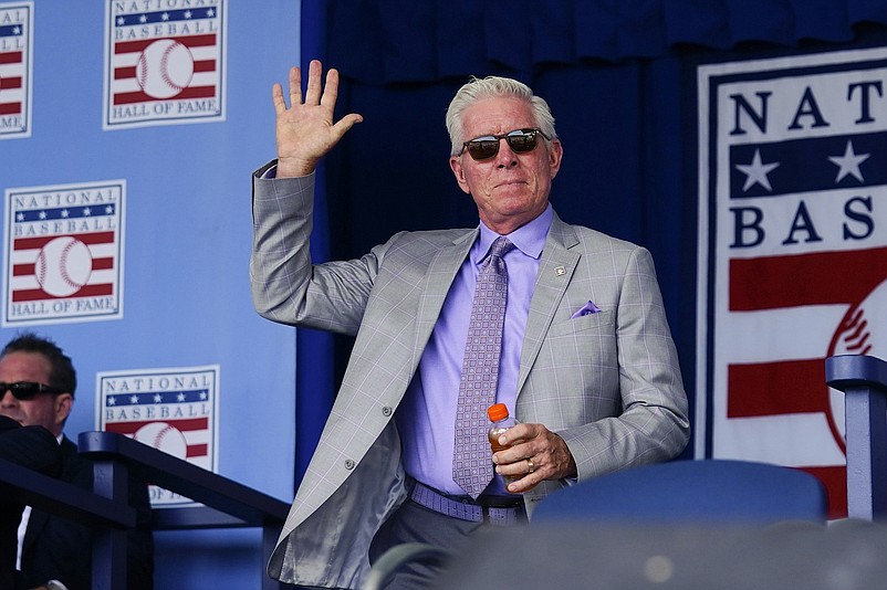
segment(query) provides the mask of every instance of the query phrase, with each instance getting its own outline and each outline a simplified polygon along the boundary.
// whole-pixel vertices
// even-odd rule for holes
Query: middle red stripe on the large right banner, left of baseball
[[[825,412],[827,409],[825,359],[728,367],[728,418]]]

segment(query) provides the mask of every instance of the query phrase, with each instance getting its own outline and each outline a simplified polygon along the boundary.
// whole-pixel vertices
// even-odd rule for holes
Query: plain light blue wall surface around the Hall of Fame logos
[[[271,85],[299,63],[300,2],[227,3],[227,120],[107,131],[105,10],[103,0],[34,1],[32,135],[0,139],[0,192],[125,179],[123,318],[0,337],[33,329],[74,359],[72,439],[96,429],[97,372],[218,365],[219,473],[289,502],[295,335],[254,313],[248,263],[250,172],[274,155]],[[259,584],[258,530],[156,539],[157,588]]]

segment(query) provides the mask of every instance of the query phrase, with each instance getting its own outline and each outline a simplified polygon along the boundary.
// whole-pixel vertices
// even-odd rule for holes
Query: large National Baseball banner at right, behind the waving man
[[[887,358],[887,49],[703,65],[697,456],[801,468],[846,516],[825,359]]]

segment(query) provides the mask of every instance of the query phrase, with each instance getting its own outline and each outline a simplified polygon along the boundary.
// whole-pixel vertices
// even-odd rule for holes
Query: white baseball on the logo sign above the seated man
[[[54,297],[67,297],[80,291],[90,280],[92,270],[90,249],[70,235],[46,242],[34,263],[40,287]]]

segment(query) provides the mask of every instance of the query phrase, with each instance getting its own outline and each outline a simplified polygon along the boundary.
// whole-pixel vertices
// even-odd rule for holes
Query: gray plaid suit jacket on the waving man
[[[394,412],[479,232],[401,232],[358,260],[312,265],[314,177],[263,179],[267,169],[253,175],[257,310],[356,336],[268,569],[289,583],[357,588],[373,536],[406,495]],[[571,318],[589,301],[602,312]],[[516,418],[564,439],[578,481],[671,459],[687,444],[687,397],[643,247],[555,214],[520,367]],[[528,514],[562,485],[524,494]]]

